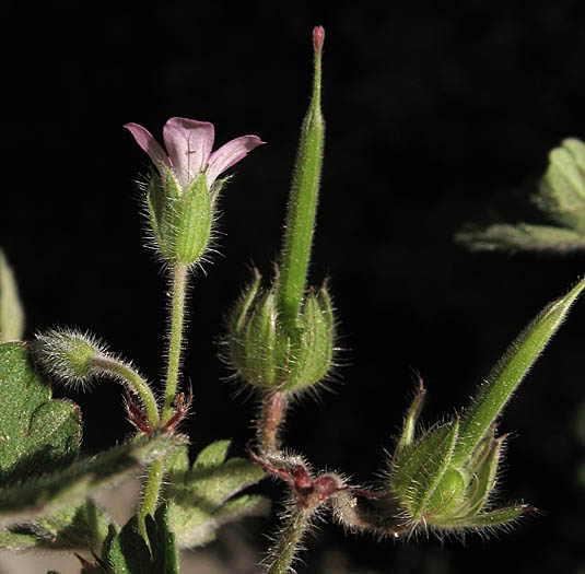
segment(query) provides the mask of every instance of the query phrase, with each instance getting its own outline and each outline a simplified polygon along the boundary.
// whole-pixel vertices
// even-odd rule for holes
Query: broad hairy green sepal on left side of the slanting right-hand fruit
[[[407,505],[414,520],[435,509],[429,506],[429,501],[449,468],[458,429],[458,419],[433,429],[402,448],[393,461],[390,490]]]

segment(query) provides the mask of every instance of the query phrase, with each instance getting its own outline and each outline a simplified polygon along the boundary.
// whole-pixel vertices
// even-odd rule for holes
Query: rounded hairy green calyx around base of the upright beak
[[[299,390],[318,383],[329,371],[334,351],[334,313],[325,285],[311,291],[299,328],[290,331],[277,311],[278,279],[268,292],[256,278],[232,313],[230,362],[250,385]]]

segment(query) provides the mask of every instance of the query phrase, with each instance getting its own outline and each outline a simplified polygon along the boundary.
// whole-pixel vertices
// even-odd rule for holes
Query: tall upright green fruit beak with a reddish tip
[[[314,39],[314,44],[313,96],[301,127],[277,290],[277,308],[289,330],[297,327],[304,297],[325,141],[325,122],[320,110],[323,36],[320,42]]]

